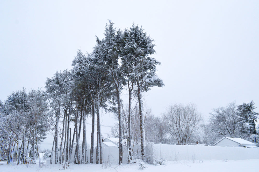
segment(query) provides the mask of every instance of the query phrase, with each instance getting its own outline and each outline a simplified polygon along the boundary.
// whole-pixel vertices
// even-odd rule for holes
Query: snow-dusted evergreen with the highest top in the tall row
[[[100,57],[104,63],[103,67],[107,69],[112,79],[113,87],[116,92],[118,105],[118,121],[119,121],[119,164],[122,163],[123,147],[122,147],[122,121],[121,121],[121,88],[123,86],[123,77],[121,76],[120,64],[120,30],[116,31],[113,23],[109,21],[104,30],[104,39],[99,40],[97,37],[97,45],[95,47],[95,55]]]

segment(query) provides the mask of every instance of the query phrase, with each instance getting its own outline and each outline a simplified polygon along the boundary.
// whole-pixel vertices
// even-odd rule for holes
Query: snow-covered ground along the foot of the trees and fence
[[[167,161],[165,165],[150,165],[145,164],[143,170],[145,171],[181,171],[181,172],[189,172],[189,171],[217,171],[217,172],[245,172],[245,171],[257,171],[258,170],[259,159],[250,159],[250,160],[204,160],[204,161]],[[135,164],[123,164],[121,166],[117,164],[71,164],[64,171],[76,171],[76,172],[132,172],[132,171],[140,171],[139,170],[140,163]],[[63,171],[62,165],[56,164],[44,164],[42,168],[38,168],[37,165],[33,167],[32,165],[19,165],[19,166],[9,166],[9,165],[0,165],[0,172],[55,172],[55,171]]]

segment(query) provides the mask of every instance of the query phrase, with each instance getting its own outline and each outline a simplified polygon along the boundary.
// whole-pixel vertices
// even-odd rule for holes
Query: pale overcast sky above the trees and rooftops
[[[165,87],[145,96],[155,115],[171,103],[213,108],[254,100],[259,107],[259,1],[0,1],[0,100],[44,87],[91,52],[111,19],[142,25],[155,39]],[[257,110],[258,111],[258,110]]]

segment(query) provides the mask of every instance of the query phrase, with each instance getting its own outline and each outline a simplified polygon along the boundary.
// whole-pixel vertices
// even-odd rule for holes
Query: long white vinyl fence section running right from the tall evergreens
[[[152,160],[164,158],[168,161],[179,160],[244,160],[259,159],[258,148],[162,145],[146,145],[146,153]]]

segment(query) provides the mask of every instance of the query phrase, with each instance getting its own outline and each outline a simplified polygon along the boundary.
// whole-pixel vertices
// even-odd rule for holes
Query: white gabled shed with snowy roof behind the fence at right
[[[241,138],[223,137],[222,139],[217,141],[213,146],[246,147],[256,146],[256,144]]]

